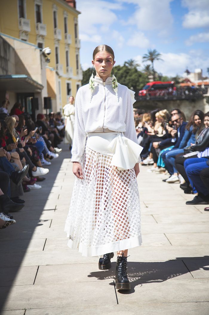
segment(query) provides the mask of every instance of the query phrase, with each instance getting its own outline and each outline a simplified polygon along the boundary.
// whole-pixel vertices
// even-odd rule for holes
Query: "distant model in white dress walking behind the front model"
[[[72,148],[72,140],[74,133],[74,125],[75,125],[75,106],[74,97],[69,97],[69,103],[63,107],[64,116],[65,116],[65,143],[69,143],[71,150]]]

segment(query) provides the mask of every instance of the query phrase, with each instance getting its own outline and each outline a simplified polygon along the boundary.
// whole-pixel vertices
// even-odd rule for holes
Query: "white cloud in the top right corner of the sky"
[[[182,0],[182,5],[189,9],[189,12],[183,18],[185,28],[209,26],[208,0]]]

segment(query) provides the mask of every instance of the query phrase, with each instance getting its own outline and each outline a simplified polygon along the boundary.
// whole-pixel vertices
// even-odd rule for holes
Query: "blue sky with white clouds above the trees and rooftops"
[[[143,67],[143,54],[157,49],[164,61],[154,66],[163,75],[182,75],[186,68],[208,75],[209,0],[77,0],[77,9],[84,70],[94,48],[107,44],[117,65],[135,59]]]

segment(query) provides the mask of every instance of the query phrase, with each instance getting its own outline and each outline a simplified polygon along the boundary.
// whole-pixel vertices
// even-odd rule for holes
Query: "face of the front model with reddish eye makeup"
[[[105,81],[107,77],[110,77],[115,61],[107,51],[103,50],[96,54],[92,64],[95,67],[97,77]]]

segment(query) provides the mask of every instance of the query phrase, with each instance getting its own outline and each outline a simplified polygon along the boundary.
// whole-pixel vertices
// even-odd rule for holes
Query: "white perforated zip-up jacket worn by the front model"
[[[118,97],[112,87],[112,78],[103,83],[94,78],[91,96],[89,84],[78,89],[75,99],[75,129],[71,162],[81,162],[88,133],[98,128],[123,132],[124,136],[137,143],[133,116],[133,92],[118,83]]]

